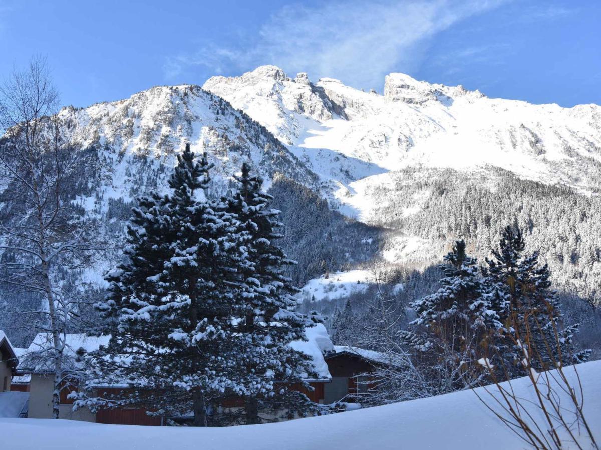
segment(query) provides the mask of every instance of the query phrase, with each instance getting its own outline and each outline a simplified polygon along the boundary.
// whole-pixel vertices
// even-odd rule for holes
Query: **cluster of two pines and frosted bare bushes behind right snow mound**
[[[331,322],[339,345],[375,350],[377,366],[364,401],[384,404],[430,397],[587,361],[577,323],[566,323],[551,272],[528,253],[519,228],[507,226],[483,265],[457,241],[438,269],[435,293],[398,301],[395,268],[374,268],[362,308],[348,299]],[[407,281],[405,279],[405,281]],[[353,332],[347,330],[352,329]],[[528,366],[524,353],[532,356]]]

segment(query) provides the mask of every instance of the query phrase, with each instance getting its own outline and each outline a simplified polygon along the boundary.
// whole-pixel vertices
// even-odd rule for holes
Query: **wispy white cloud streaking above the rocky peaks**
[[[429,40],[451,25],[505,3],[505,0],[329,2],[319,7],[283,7],[250,44],[207,43],[194,55],[165,62],[165,76],[191,66],[215,74],[275,64],[312,79],[334,77],[356,86],[379,86],[391,71],[415,70]]]

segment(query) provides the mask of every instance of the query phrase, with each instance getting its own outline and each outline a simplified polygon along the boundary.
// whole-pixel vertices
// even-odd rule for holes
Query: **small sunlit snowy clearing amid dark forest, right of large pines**
[[[313,301],[334,300],[348,297],[352,293],[365,292],[369,284],[373,283],[371,271],[354,270],[349,272],[335,272],[328,278],[322,275],[314,280],[309,280],[301,290],[301,298]]]

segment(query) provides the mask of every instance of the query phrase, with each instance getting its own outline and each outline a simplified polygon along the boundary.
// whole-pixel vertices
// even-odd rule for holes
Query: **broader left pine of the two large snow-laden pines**
[[[243,236],[227,205],[198,200],[211,167],[186,145],[169,180],[173,194],[140,200],[128,260],[108,274],[98,305],[112,338],[96,356],[138,388],[124,400],[163,414],[191,411],[195,426],[207,425],[207,399],[233,385],[231,317],[243,265]]]

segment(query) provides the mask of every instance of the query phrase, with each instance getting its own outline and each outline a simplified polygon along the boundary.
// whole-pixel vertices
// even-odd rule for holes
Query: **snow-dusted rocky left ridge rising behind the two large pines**
[[[198,86],[152,88],[127,100],[64,108],[59,116],[73,146],[96,152],[95,195],[104,206],[96,205],[97,211],[106,211],[107,199],[132,200],[150,188],[166,188],[175,154],[186,143],[198,154],[207,152],[218,191],[244,161],[267,186],[279,172],[319,189],[316,176],[267,130]]]

